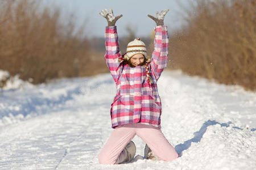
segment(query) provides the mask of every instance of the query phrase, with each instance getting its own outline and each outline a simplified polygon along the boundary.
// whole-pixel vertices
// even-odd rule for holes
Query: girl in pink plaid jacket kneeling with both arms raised
[[[146,143],[144,158],[167,162],[178,157],[160,130],[162,104],[157,81],[167,66],[168,33],[163,25],[167,12],[156,12],[156,17],[148,15],[156,22],[152,58],[147,56],[146,46],[139,38],[129,42],[126,54],[122,56],[115,26],[122,15],[115,17],[112,9],[100,12],[108,21],[105,29],[105,61],[117,87],[117,95],[110,109],[114,130],[98,154],[101,164],[130,162],[136,152],[131,141],[135,135]]]

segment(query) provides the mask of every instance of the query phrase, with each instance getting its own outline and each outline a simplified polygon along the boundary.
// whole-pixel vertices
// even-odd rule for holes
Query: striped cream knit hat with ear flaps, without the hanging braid
[[[143,54],[146,58],[146,62],[150,62],[150,57],[147,56],[147,49],[144,42],[140,38],[136,38],[133,41],[129,42],[126,49],[126,54],[122,59],[119,59],[119,62],[122,62],[123,59],[127,61],[133,57],[135,54]]]

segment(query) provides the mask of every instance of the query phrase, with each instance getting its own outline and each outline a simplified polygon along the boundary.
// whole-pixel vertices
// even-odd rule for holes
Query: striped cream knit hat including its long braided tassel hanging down
[[[126,53],[121,58],[118,58],[118,62],[121,63],[125,59],[128,61],[135,54],[143,54],[143,56],[146,58],[146,73],[148,77],[148,83],[151,84],[153,81],[148,71],[148,63],[150,62],[151,57],[147,56],[146,45],[140,38],[136,38],[128,43]]]

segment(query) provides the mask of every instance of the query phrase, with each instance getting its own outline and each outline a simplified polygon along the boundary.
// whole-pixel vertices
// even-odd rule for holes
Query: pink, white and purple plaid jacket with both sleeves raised
[[[152,84],[148,83],[144,66],[130,67],[118,62],[122,54],[119,52],[116,26],[106,27],[105,45],[105,61],[117,87],[117,94],[110,109],[112,128],[137,122],[161,128],[162,103],[157,81],[167,66],[167,27],[161,25],[155,27],[154,52],[148,65]]]

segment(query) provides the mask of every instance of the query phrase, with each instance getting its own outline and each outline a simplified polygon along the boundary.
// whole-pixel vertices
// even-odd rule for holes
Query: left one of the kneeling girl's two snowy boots
[[[123,149],[121,154],[118,156],[117,162],[115,162],[115,164],[130,162],[134,158],[135,152],[136,152],[136,146],[133,141],[130,141],[126,145],[126,147]]]

